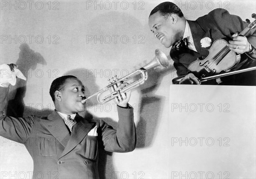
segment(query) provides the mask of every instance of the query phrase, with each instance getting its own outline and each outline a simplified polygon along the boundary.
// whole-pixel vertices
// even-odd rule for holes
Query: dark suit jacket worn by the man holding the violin
[[[209,55],[209,51],[206,48],[201,47],[201,39],[205,37],[211,38],[212,43],[220,38],[232,40],[232,35],[235,32],[241,32],[248,26],[247,22],[242,21],[241,18],[236,15],[230,15],[229,12],[225,9],[215,9],[209,12],[209,14],[204,15],[203,17],[199,17],[195,21],[187,21],[192,32],[192,38],[194,40],[197,52],[188,48],[182,52],[171,49],[170,56],[174,61],[174,66],[177,69],[178,76],[186,75],[189,64],[191,64],[193,61],[196,61],[197,58],[201,58],[202,56],[205,58],[207,57],[207,55]],[[248,42],[255,48],[256,28],[251,29],[245,36],[247,37]],[[236,69],[256,66],[256,62],[251,60],[251,58],[248,58],[247,55],[245,53],[241,55],[241,61],[238,66],[236,66]],[[253,58],[255,57],[256,55],[254,53]],[[256,75],[255,71],[252,72],[252,75]],[[244,82],[248,82],[243,77],[241,77],[241,81],[238,82],[238,76],[241,75],[239,74],[234,75],[233,77],[226,78],[228,79],[226,81],[229,81],[230,84],[241,84]],[[253,84],[255,84],[255,80],[253,81]]]

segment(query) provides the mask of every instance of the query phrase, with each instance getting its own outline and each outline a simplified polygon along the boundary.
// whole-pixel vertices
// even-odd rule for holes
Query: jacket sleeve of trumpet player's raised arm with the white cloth
[[[7,104],[9,88],[0,87],[0,136],[25,144],[34,126],[34,117],[14,118],[6,116],[4,109]]]

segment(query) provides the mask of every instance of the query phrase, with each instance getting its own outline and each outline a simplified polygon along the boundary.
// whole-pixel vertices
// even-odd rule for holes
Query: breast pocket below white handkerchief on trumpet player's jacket
[[[98,152],[97,136],[87,136],[84,157],[95,160]]]

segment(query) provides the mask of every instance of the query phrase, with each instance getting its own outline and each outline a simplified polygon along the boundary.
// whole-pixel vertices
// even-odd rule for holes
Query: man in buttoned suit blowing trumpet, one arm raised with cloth
[[[17,69],[15,64],[9,66],[10,73]],[[1,79],[0,136],[26,146],[34,162],[32,178],[99,179],[99,147],[110,152],[134,150],[133,108],[128,105],[131,91],[117,104],[119,121],[114,130],[102,120],[87,121],[78,115],[85,110],[85,95],[83,84],[75,76],[52,82],[49,91],[55,110],[47,117],[3,115],[10,83]]]

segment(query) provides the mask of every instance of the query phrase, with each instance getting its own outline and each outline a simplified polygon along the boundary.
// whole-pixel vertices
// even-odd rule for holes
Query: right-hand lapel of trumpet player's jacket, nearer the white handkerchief
[[[70,139],[67,142],[67,146],[60,158],[73,150],[73,148],[75,148],[84,139],[87,133],[89,133],[89,131],[95,125],[94,123],[88,123],[88,121],[84,120],[84,118],[78,114],[76,115],[75,120],[76,124],[73,126]]]

